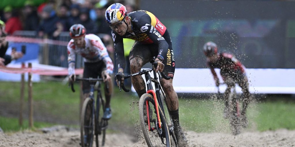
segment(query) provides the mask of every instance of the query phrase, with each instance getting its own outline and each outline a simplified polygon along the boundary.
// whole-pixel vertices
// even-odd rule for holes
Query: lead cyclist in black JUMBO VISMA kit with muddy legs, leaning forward
[[[175,59],[168,30],[152,13],[138,10],[127,14],[126,7],[120,3],[109,6],[105,19],[112,29],[118,75],[124,77],[123,38],[135,40],[129,54],[131,74],[140,71],[143,65],[157,56],[155,62],[158,66],[154,67],[156,72],[164,72],[171,78],[170,80],[161,79],[160,84],[167,95],[168,110],[175,125],[176,138],[179,146],[186,146],[187,140],[179,123],[178,97],[172,84]],[[118,84],[118,79],[116,81]],[[133,76],[131,81],[139,97],[146,93],[142,76]],[[124,79],[121,79],[121,82],[124,83]]]

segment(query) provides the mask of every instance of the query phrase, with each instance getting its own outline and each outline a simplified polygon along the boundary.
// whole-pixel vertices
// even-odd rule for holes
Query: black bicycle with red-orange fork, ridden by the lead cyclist
[[[157,63],[154,63],[155,60],[151,60],[155,67],[157,67]],[[153,71],[154,78],[150,76],[150,72]],[[162,72],[159,71],[157,74],[153,68],[147,70],[141,70],[135,74],[131,74],[128,76],[124,76],[124,79],[130,78],[136,75],[145,74],[145,80],[147,84],[148,91],[140,97],[139,101],[139,116],[140,116],[140,124],[142,128],[142,133],[145,138],[145,141],[148,147],[154,146],[166,146],[178,147],[175,133],[174,133],[174,125],[169,114],[167,104],[166,104],[166,96],[160,86],[160,82],[158,79],[164,78],[169,80],[170,77],[167,77]],[[124,84],[121,83],[122,77],[120,75],[116,75],[119,81],[119,89],[123,89],[125,92],[129,92],[129,89],[125,88]],[[155,90],[153,89],[152,82],[155,84]],[[173,141],[171,142],[171,136]]]

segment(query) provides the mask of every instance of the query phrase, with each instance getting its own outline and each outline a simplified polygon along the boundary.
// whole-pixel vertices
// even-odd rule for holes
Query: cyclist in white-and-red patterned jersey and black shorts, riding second
[[[72,76],[75,76],[75,55],[80,54],[84,59],[83,78],[104,79],[104,83],[108,84],[109,89],[104,88],[106,103],[104,119],[112,117],[110,100],[112,94],[112,79],[114,65],[112,59],[102,43],[101,39],[94,34],[87,34],[86,29],[81,24],[74,24],[70,28],[71,41],[68,43],[68,74],[69,80],[72,82]],[[74,78],[75,79],[75,78]],[[82,83],[84,99],[89,96],[90,83],[83,81]]]

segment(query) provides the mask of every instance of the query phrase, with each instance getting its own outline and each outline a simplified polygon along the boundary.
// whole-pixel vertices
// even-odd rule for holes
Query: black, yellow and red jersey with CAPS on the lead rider
[[[170,58],[169,61],[171,61],[171,55],[167,55],[167,40],[170,40],[170,37],[166,27],[148,11],[134,11],[127,14],[127,16],[130,19],[133,32],[126,32],[126,34],[120,36],[115,31],[112,31],[118,69],[124,69],[125,67],[123,38],[133,39],[142,44],[157,44],[158,56],[162,56],[163,59]]]

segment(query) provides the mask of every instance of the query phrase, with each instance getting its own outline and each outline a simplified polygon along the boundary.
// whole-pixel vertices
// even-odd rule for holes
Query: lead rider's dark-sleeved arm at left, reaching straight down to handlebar
[[[114,33],[114,31],[112,31],[112,37],[114,40],[114,46],[115,46],[114,48],[115,48],[118,72],[123,72],[125,68],[123,37],[118,35],[117,33]]]

